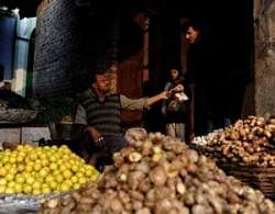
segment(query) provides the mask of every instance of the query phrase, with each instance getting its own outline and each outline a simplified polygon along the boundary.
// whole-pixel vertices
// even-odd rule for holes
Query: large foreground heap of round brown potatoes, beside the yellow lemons
[[[183,142],[139,129],[96,184],[42,204],[46,213],[275,213],[273,202]]]

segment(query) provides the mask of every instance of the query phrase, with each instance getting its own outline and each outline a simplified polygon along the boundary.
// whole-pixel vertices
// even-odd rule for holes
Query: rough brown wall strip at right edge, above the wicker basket
[[[255,114],[275,114],[275,1],[254,0]]]

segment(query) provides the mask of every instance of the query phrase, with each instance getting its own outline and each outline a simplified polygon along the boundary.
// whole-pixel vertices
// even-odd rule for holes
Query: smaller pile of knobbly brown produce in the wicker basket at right
[[[197,137],[194,143],[207,148],[207,155],[219,154],[224,161],[274,167],[275,119],[249,116],[220,132]]]

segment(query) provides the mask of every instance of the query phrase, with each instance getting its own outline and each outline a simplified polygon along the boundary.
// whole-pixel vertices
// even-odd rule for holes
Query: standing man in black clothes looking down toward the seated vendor
[[[215,81],[221,71],[219,55],[201,29],[198,22],[189,21],[184,24],[186,38],[190,44],[185,78],[194,94],[194,124],[190,132],[194,132],[195,136],[206,135],[212,131],[213,119],[219,108],[219,89]]]

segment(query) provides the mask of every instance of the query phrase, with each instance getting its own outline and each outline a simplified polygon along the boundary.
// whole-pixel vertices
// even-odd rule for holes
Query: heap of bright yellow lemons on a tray
[[[59,193],[95,182],[99,174],[65,145],[0,151],[0,193]]]

